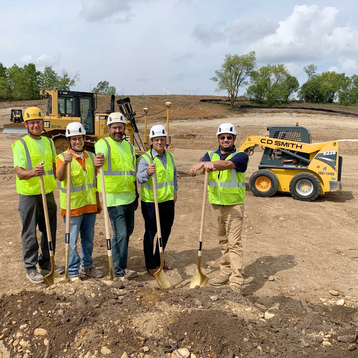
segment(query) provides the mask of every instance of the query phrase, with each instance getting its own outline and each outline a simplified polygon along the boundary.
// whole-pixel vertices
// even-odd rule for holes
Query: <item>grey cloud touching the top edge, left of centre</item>
[[[132,14],[130,10],[132,7],[129,5],[131,0],[82,0],[82,15],[89,22],[97,22],[109,19],[118,13],[125,13],[123,19],[119,16],[115,22],[126,22],[130,20]]]

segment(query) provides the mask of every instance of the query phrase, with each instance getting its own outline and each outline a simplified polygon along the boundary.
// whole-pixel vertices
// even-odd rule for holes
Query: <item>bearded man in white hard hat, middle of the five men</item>
[[[113,237],[113,272],[116,277],[131,279],[138,273],[127,269],[129,237],[134,230],[134,211],[138,208],[139,194],[136,183],[135,149],[126,141],[126,118],[119,112],[108,116],[110,136],[95,144],[97,168],[103,166],[108,214]],[[98,178],[101,192],[101,178]]]

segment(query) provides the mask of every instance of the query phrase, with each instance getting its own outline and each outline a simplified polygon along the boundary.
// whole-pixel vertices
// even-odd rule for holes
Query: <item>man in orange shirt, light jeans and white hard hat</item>
[[[56,157],[56,174],[60,180],[60,205],[64,225],[70,221],[68,275],[71,281],[79,275],[100,278],[103,272],[93,266],[93,239],[96,214],[102,211],[97,192],[95,155],[84,150],[86,130],[79,122],[66,127],[69,142],[67,151]],[[71,163],[71,214],[66,217],[67,164]],[[78,234],[81,232],[81,258],[77,252]]]

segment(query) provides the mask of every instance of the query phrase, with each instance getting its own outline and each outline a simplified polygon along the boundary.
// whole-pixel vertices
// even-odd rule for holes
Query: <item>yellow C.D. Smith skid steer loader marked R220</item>
[[[267,130],[269,136],[250,135],[239,148],[251,155],[256,147],[263,147],[258,170],[249,180],[255,196],[289,192],[297,200],[311,201],[320,194],[342,190],[338,140],[311,143],[309,130],[298,123]]]

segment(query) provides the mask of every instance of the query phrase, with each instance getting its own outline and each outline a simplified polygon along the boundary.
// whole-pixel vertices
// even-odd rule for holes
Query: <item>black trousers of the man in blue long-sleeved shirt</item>
[[[158,203],[158,206],[160,231],[164,250],[174,222],[174,200]],[[145,226],[143,238],[145,267],[147,269],[156,269],[160,266],[160,256],[158,240],[156,240],[155,252],[153,254],[154,238],[157,233],[155,206],[154,203],[146,203],[142,200],[141,208]]]

